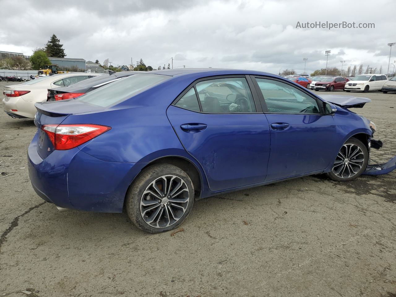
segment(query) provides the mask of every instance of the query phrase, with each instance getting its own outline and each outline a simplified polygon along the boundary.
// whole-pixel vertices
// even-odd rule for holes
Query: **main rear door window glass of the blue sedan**
[[[219,78],[196,84],[203,112],[256,112],[246,78]]]

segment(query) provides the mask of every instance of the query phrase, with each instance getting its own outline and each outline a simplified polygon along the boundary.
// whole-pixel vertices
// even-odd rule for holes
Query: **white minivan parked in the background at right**
[[[388,80],[384,74],[362,74],[355,76],[345,84],[345,91],[381,91],[383,85]]]

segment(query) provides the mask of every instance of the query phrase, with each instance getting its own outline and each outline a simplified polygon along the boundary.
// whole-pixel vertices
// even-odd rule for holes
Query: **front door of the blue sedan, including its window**
[[[336,126],[322,101],[283,80],[256,76],[267,116],[271,153],[266,180],[321,171],[334,161]]]

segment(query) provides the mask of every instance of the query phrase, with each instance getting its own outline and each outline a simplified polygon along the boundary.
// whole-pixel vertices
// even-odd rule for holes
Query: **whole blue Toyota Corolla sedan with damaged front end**
[[[381,143],[375,125],[348,108],[369,101],[321,98],[258,71],[139,73],[36,103],[30,180],[60,210],[125,207],[137,227],[163,232],[195,199],[317,173],[358,177]]]

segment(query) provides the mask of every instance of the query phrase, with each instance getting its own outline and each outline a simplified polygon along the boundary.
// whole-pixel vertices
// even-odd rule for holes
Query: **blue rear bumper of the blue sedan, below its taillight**
[[[144,163],[102,161],[79,148],[54,150],[43,160],[37,138],[28,148],[28,167],[38,196],[62,208],[122,212],[126,191]]]

